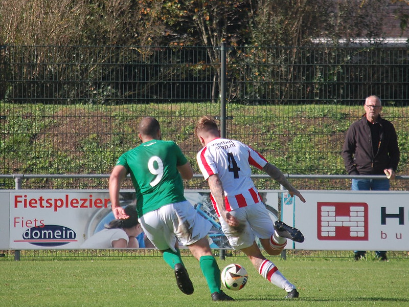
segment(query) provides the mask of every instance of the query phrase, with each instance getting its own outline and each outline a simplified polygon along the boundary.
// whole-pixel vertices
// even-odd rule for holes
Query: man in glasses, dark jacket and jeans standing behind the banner
[[[344,164],[350,175],[382,175],[387,179],[352,179],[352,190],[384,191],[390,188],[399,162],[399,147],[393,124],[380,116],[382,103],[369,96],[363,105],[365,114],[348,129],[342,148]],[[387,252],[376,251],[387,261]],[[354,251],[355,260],[366,257],[366,251]]]

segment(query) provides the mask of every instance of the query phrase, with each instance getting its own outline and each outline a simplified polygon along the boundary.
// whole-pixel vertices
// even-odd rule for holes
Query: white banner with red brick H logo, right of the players
[[[409,192],[302,191],[282,195],[282,220],[300,229],[305,250],[409,250]],[[287,244],[288,248],[290,247]]]

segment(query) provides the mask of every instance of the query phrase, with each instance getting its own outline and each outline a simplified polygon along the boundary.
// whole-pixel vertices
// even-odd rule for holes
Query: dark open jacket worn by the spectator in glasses
[[[348,129],[342,148],[342,157],[350,175],[384,174],[385,168],[396,171],[399,163],[399,147],[393,124],[379,116],[380,140],[376,155],[372,148],[371,130],[366,116],[354,122]]]

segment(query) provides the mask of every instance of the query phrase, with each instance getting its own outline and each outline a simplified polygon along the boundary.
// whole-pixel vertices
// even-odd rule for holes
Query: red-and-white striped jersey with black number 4
[[[226,210],[261,202],[251,179],[251,165],[262,169],[267,160],[253,148],[236,140],[216,138],[196,156],[197,164],[206,180],[218,174],[224,189]],[[213,197],[213,206],[218,213]]]

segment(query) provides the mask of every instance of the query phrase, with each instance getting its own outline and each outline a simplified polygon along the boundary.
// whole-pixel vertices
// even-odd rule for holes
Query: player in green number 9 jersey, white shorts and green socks
[[[192,294],[192,281],[180,257],[177,242],[189,247],[199,261],[214,301],[233,300],[220,290],[220,269],[209,246],[211,224],[186,200],[182,179],[193,170],[173,141],[163,141],[159,122],[145,117],[139,124],[142,144],[125,152],[109,178],[109,195],[116,218],[127,218],[119,203],[122,180],[130,173],[137,195],[139,221],[147,237],[174,270],[180,291]]]

